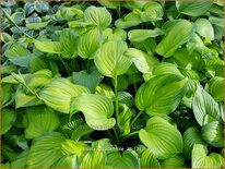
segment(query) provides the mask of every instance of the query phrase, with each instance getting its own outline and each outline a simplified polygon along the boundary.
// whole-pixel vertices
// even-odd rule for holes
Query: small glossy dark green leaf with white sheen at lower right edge
[[[224,146],[223,125],[218,121],[213,121],[203,125],[201,130],[202,138],[215,147]]]

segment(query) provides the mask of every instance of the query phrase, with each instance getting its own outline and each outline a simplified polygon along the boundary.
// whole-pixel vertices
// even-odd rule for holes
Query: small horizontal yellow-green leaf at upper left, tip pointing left
[[[61,53],[61,44],[59,41],[34,39],[34,45],[38,50],[43,52]]]

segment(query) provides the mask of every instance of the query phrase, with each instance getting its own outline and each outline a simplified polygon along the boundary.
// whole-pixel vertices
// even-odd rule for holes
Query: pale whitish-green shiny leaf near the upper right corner
[[[197,33],[209,40],[214,40],[214,29],[212,24],[205,19],[198,19],[194,22]]]

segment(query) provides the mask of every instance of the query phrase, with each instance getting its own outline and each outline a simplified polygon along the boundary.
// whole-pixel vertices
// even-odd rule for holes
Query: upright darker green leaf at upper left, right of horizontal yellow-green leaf
[[[61,46],[61,56],[66,59],[75,58],[78,56],[79,34],[74,29],[66,28],[61,32],[59,41]]]

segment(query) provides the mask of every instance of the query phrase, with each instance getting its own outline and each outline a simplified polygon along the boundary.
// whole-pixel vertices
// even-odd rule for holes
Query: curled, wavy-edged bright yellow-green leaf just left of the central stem
[[[83,94],[72,100],[70,114],[82,111],[87,125],[95,130],[107,130],[116,124],[110,118],[114,113],[112,101],[106,96]]]

